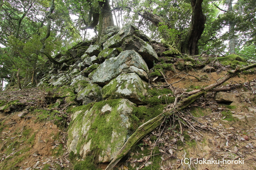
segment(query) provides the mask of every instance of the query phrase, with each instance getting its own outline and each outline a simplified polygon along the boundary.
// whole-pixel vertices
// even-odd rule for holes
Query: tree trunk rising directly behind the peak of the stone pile
[[[108,0],[99,1],[100,5],[100,18],[99,18],[99,39],[105,35],[106,27],[114,25],[114,20]]]

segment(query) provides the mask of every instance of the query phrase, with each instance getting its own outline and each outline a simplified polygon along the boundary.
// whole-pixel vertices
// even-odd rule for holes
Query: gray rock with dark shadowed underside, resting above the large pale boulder
[[[134,50],[141,55],[148,67],[153,66],[154,61],[158,61],[158,56],[151,45],[136,36],[128,37],[124,40],[121,48],[123,50]]]

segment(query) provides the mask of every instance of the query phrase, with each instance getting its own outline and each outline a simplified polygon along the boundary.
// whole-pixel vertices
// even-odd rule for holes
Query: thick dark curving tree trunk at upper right
[[[192,6],[191,27],[188,39],[182,47],[182,52],[190,55],[198,55],[198,41],[204,31],[206,17],[202,12],[203,0],[191,0],[190,2]]]

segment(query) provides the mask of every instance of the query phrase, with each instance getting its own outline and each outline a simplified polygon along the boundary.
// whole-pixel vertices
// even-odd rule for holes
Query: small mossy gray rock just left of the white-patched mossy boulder
[[[98,86],[97,84],[89,84],[81,90],[77,94],[77,101],[81,102],[83,105],[92,103],[92,102],[99,102],[102,100],[102,87]]]

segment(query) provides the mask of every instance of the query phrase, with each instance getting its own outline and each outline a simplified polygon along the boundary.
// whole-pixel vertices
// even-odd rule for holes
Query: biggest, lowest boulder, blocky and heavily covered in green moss
[[[69,152],[94,156],[98,162],[111,162],[128,139],[134,104],[127,99],[104,100],[72,109],[68,128]]]

